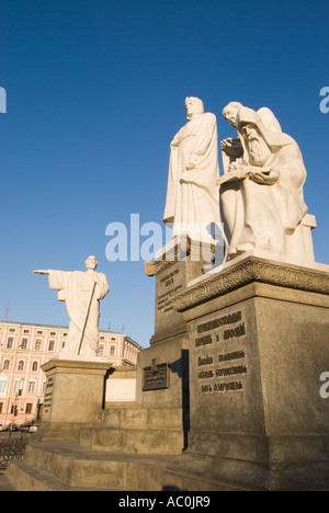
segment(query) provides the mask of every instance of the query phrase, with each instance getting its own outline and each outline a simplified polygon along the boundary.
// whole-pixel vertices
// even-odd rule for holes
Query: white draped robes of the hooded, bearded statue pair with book
[[[275,172],[279,179],[275,183],[259,184],[247,176],[220,185],[220,206],[230,258],[247,247],[287,256],[303,256],[305,242],[302,221],[307,213],[303,193],[306,170],[298,145],[288,135],[268,129],[261,117],[250,109],[242,107],[239,111],[239,126],[242,123],[258,126],[271,149],[263,169],[270,169],[269,178]],[[239,126],[238,134],[243,147],[242,164],[248,167],[251,164]],[[262,171],[262,167],[259,169]]]

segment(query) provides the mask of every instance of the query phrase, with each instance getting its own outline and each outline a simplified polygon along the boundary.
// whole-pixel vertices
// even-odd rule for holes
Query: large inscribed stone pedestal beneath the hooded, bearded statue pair
[[[329,267],[249,256],[172,304],[190,338],[182,468],[256,489],[328,489]]]

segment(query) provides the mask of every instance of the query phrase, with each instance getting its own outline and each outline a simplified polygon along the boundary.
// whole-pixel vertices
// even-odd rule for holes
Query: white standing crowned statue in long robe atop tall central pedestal
[[[170,145],[163,221],[172,224],[173,237],[203,231],[206,239],[209,225],[219,223],[217,122],[197,98],[186,98],[185,106],[189,121]]]

